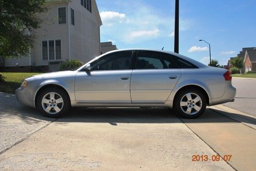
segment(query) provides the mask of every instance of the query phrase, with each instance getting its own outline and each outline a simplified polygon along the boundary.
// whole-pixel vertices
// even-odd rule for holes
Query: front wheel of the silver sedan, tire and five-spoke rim
[[[66,91],[47,88],[39,93],[36,106],[41,114],[51,118],[59,118],[69,112],[70,99]]]

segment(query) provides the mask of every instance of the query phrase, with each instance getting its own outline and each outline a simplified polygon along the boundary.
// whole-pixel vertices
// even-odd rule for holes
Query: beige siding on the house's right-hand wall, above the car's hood
[[[70,8],[75,11],[75,26],[71,25]],[[80,1],[70,2],[69,21],[72,59],[79,59],[85,63],[100,55],[100,23],[96,18],[96,12],[98,11],[95,11],[94,2],[92,2],[92,13],[84,8]]]

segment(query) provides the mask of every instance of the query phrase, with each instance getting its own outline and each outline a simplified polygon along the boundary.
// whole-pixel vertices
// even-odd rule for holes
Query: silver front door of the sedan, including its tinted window
[[[131,103],[130,69],[133,51],[105,55],[91,63],[91,71],[76,75],[78,103]]]

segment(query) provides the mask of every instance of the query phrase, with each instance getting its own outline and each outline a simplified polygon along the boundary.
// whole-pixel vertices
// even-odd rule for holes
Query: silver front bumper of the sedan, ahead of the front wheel
[[[32,108],[35,108],[34,101],[29,100],[27,91],[28,91],[28,89],[23,88],[23,87],[19,87],[18,89],[16,89],[15,95],[17,97],[17,100],[20,104],[24,104],[24,105],[30,106]]]

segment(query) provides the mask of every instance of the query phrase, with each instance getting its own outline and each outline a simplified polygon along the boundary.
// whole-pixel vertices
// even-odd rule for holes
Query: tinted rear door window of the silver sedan
[[[178,68],[171,57],[164,53],[139,51],[135,69],[175,69]]]

